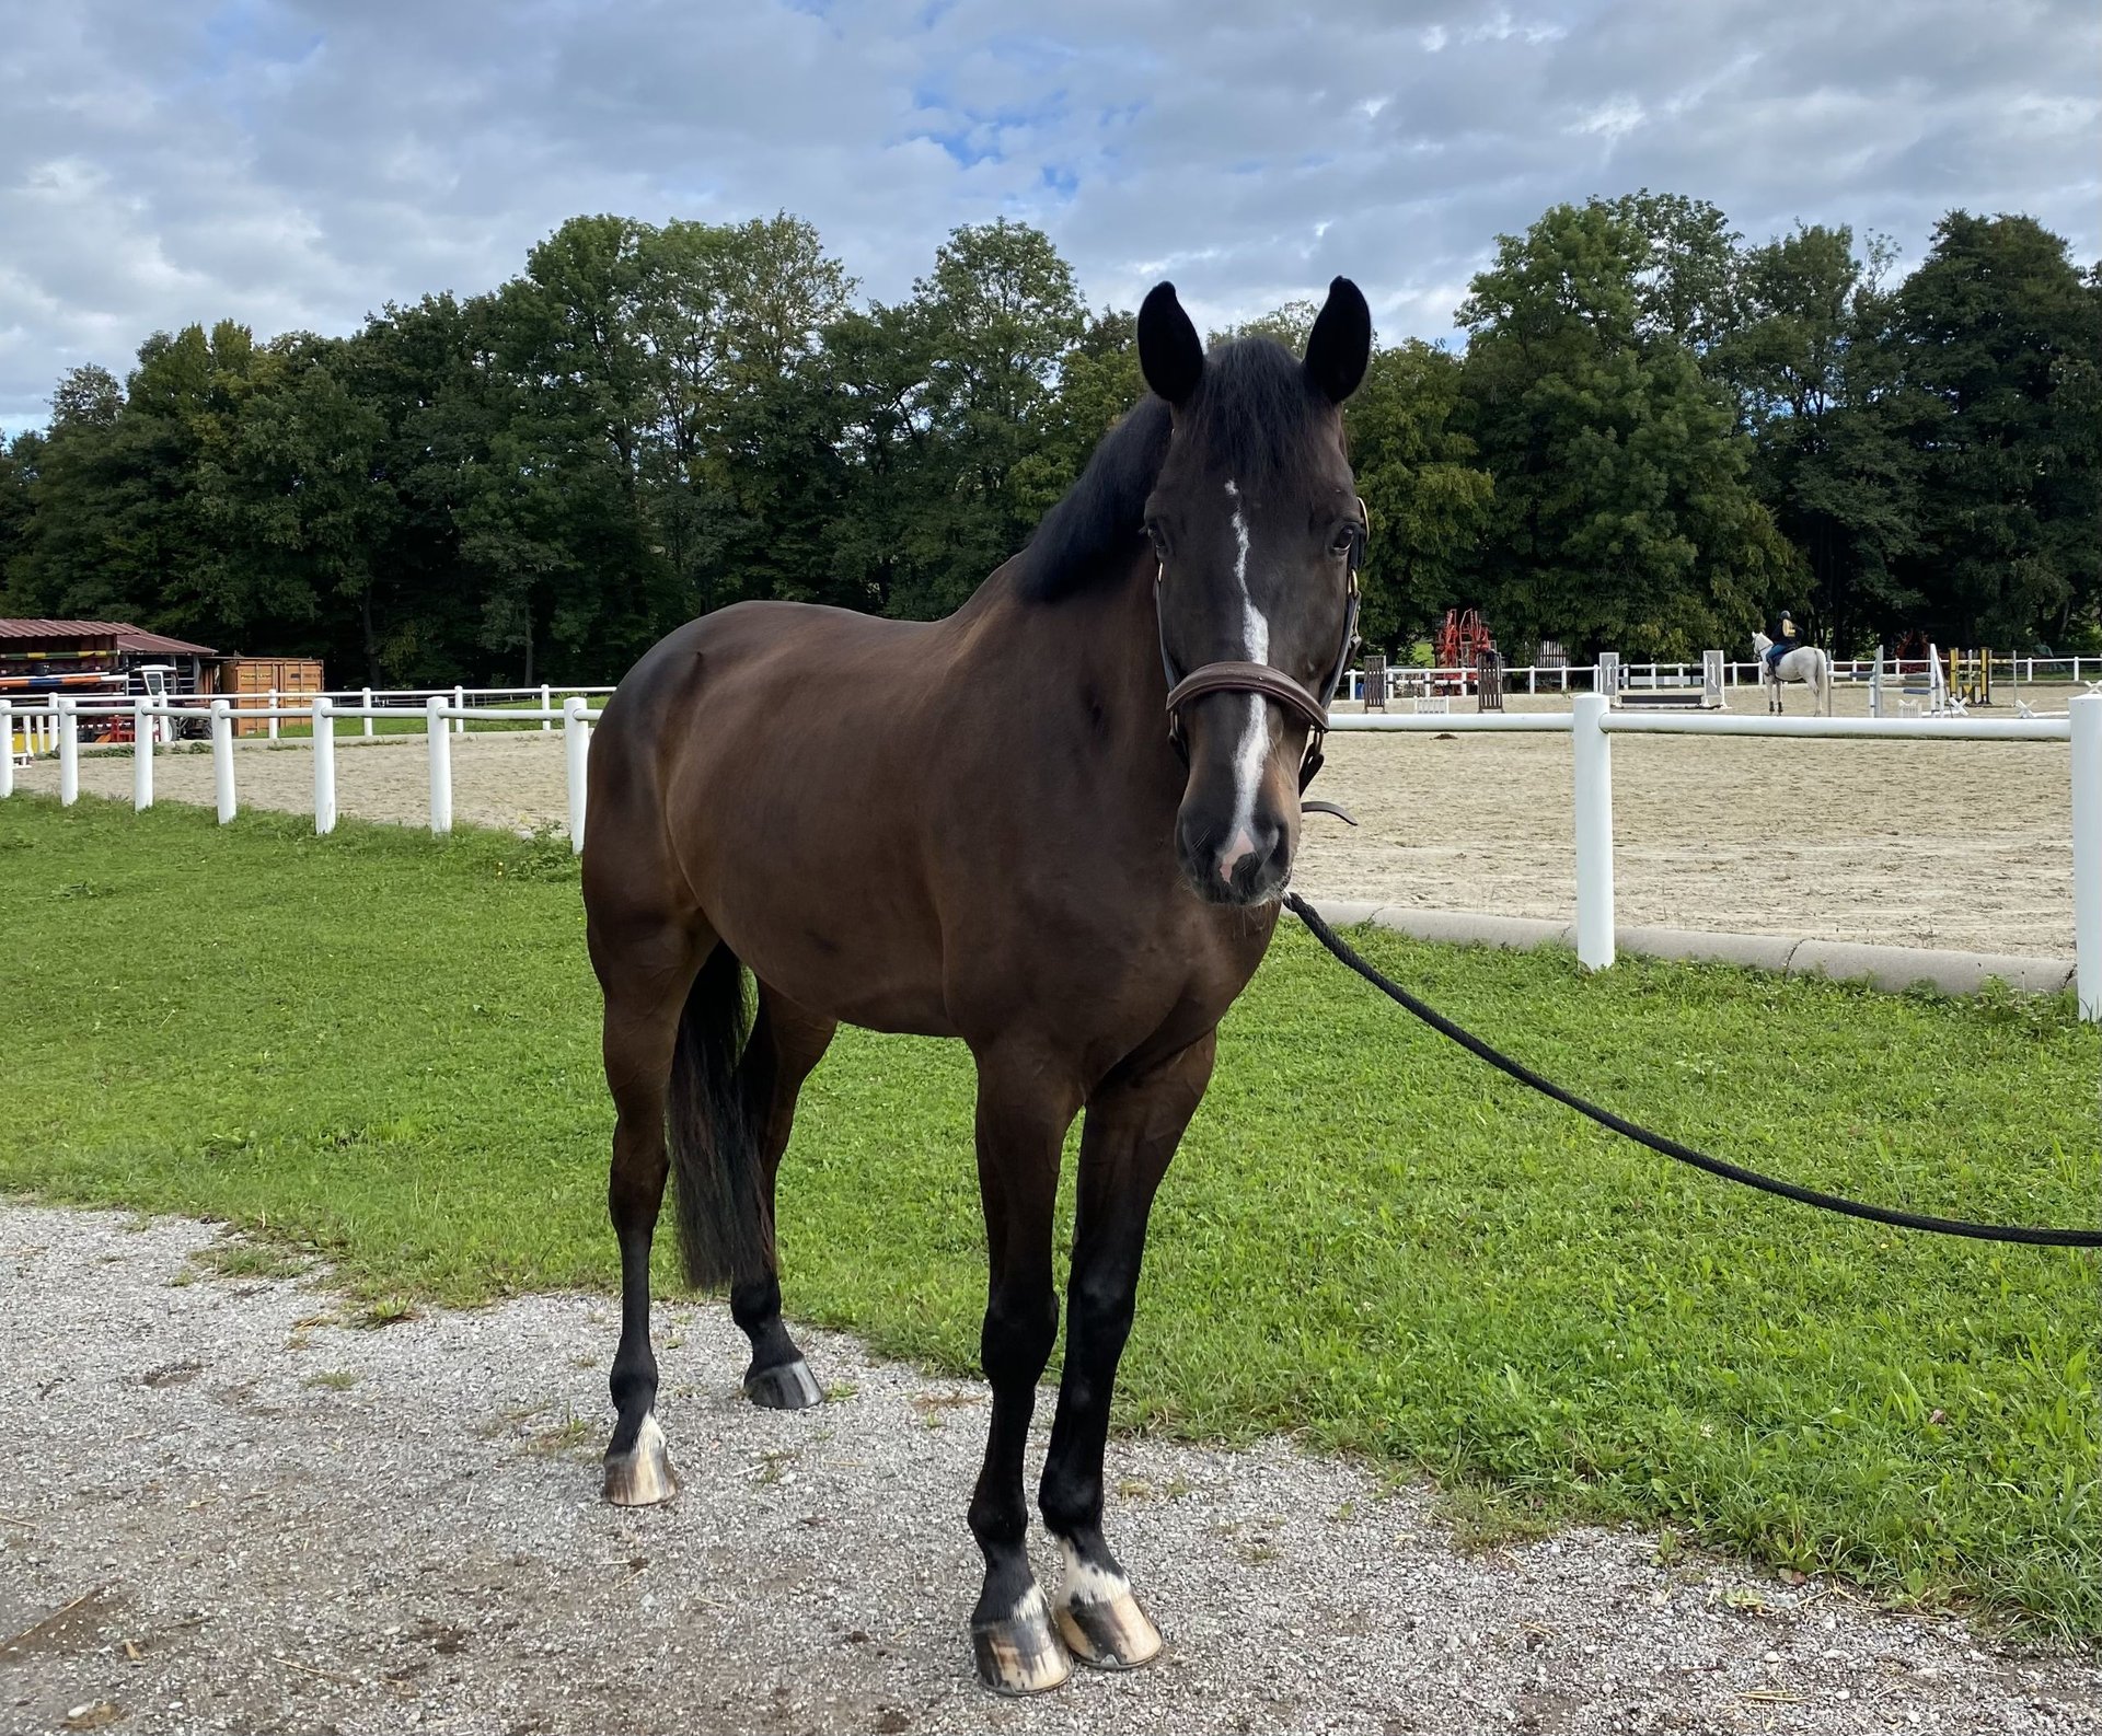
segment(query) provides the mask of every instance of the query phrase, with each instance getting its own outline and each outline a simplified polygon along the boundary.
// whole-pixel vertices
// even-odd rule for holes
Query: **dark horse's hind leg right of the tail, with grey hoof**
[[[759,1017],[738,1063],[738,1089],[757,1122],[765,1269],[740,1278],[729,1290],[729,1316],[753,1345],[744,1396],[767,1410],[805,1410],[824,1393],[803,1351],[782,1324],[780,1257],[774,1246],[774,1198],[782,1154],[795,1129],[797,1095],[839,1030],[826,1019],[759,984]]]

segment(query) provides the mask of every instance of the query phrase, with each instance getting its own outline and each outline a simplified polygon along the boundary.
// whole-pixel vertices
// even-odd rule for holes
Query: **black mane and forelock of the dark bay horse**
[[[1183,414],[1186,437],[1249,485],[1318,462],[1326,401],[1284,345],[1236,338],[1204,357]],[[1118,570],[1146,530],[1146,496],[1169,456],[1169,406],[1148,393],[1095,448],[1080,479],[1045,513],[1022,557],[1022,595],[1049,603]]]

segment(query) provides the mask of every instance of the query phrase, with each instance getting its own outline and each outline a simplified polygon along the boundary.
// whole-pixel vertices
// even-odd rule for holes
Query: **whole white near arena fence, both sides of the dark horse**
[[[599,689],[605,691],[605,689]],[[153,719],[181,702],[135,700],[132,715],[132,807],[153,805]],[[86,702],[55,700],[42,706],[11,706],[0,700],[0,742],[8,742],[19,721],[50,719],[57,729],[59,801],[80,794],[80,715]],[[595,712],[580,694],[561,708],[454,704],[448,696],[425,698],[425,733],[431,759],[431,832],[452,830],[452,733],[469,719],[538,721],[542,729],[563,727],[563,765],[570,794],[570,847],[584,847],[584,765],[591,752]],[[254,715],[254,712],[250,712]],[[307,706],[277,706],[273,717],[296,717],[313,725],[313,828],[336,826],[336,721],[395,715],[399,708],[338,706],[328,694]],[[219,820],[235,813],[233,710],[227,700],[210,702],[212,782]],[[2081,1017],[2102,1021],[2102,694],[2070,702],[2066,717],[1980,719],[1980,717],[1766,717],[1730,712],[1629,712],[1614,710],[1604,694],[1579,694],[1570,710],[1480,712],[1480,715],[1354,715],[1331,721],[1337,731],[1501,731],[1568,736],[1576,803],[1576,958],[1606,969],[1614,956],[1612,897],[1612,738],[1614,736],[1816,736],[1825,740],[1885,742],[2070,742],[2073,744],[2073,950],[2075,990]],[[13,794],[15,761],[0,752],[0,797]]]

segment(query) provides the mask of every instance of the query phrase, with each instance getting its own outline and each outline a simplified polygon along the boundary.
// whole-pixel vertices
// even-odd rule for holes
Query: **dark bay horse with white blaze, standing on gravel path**
[[[1150,395],[963,609],[721,609],[635,664],[593,742],[584,906],[622,1272],[605,1496],[675,1488],[650,1349],[666,1171],[689,1280],[727,1286],[750,1337],[746,1393],[816,1404],[774,1255],[797,1091],[843,1019],[963,1038],[992,1385],[971,1635],[996,1690],[1055,1688],[1068,1650],[1106,1669],[1160,1650],[1101,1534],[1110,1391],[1154,1190],[1270,946],[1352,647],[1364,507],[1341,404],[1368,353],[1343,277],[1303,359],[1268,338],[1207,355],[1156,286],[1139,311]],[[1022,1448],[1057,1339],[1059,1145],[1083,1110],[1038,1488],[1064,1553],[1047,1604]]]

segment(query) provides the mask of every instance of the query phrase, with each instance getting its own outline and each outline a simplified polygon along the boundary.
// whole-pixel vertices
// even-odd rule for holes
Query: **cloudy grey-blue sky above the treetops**
[[[1654,187],[1917,259],[2102,246],[2094,0],[0,0],[0,427],[156,328],[345,332],[563,216],[811,219],[895,298],[959,223],[1223,324],[1333,273],[1446,336],[1499,231]]]

